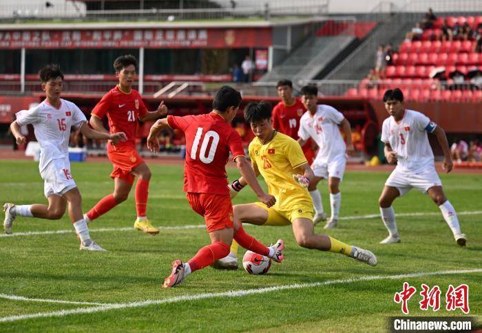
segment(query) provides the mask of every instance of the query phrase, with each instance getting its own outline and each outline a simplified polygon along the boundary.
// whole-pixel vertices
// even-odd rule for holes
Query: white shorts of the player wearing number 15
[[[50,195],[64,195],[77,187],[72,175],[70,175],[70,163],[64,160],[52,160],[40,173],[43,178],[43,194],[45,197]]]

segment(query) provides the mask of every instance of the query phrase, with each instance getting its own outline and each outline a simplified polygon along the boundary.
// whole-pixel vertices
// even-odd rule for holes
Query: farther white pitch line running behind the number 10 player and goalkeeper
[[[482,214],[482,211],[463,211],[457,212],[457,215],[479,215]],[[441,215],[441,213],[437,212],[427,212],[427,213],[399,213],[397,217],[410,217],[410,216],[431,216],[431,215]],[[373,219],[380,217],[379,214],[368,214],[368,215],[353,215],[353,216],[342,216],[338,219]],[[245,224],[244,226],[250,226],[250,224]],[[205,228],[205,224],[190,224],[187,226],[158,226],[160,230],[182,230],[182,229],[198,229],[198,228]],[[98,229],[89,229],[92,233],[102,233],[106,231],[134,231],[132,227],[124,227],[124,228],[98,228]],[[1,233],[1,237],[15,237],[15,236],[33,236],[33,235],[52,235],[52,234],[63,234],[63,233],[74,233],[74,229],[65,229],[65,230],[48,230],[48,231],[27,231],[25,233],[11,233],[5,234]]]

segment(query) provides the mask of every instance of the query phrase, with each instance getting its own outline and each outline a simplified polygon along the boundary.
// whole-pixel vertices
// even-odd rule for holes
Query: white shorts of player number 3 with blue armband
[[[442,182],[435,171],[433,165],[428,166],[420,172],[412,173],[410,171],[401,171],[395,168],[385,182],[386,186],[396,187],[400,192],[400,196],[415,187],[423,193],[427,193],[428,189],[433,186],[442,186]]]

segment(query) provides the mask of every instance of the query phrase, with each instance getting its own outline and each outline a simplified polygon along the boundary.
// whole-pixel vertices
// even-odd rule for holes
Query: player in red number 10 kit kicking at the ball
[[[199,215],[205,217],[211,244],[187,263],[176,260],[172,272],[164,281],[163,288],[170,288],[182,281],[195,270],[205,268],[214,261],[229,254],[229,246],[235,239],[242,247],[260,255],[266,255],[280,262],[284,258],[284,242],[278,239],[275,245],[266,247],[253,236],[248,235],[242,225],[233,224],[233,206],[229,195],[226,164],[229,152],[236,167],[263,204],[271,207],[275,197],[264,193],[255,173],[244,155],[241,137],[230,123],[238,112],[241,94],[235,89],[221,87],[213,100],[213,111],[198,116],[168,116],[151,127],[147,147],[158,151],[158,133],[166,128],[180,129],[186,136],[186,160],[184,191],[187,201]]]

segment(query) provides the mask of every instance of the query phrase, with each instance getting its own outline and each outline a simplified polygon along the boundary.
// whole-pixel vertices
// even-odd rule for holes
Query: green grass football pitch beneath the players
[[[2,204],[46,202],[36,163],[4,160],[0,165]],[[205,268],[190,275],[179,288],[163,290],[160,286],[169,275],[171,261],[191,258],[209,242],[209,237],[201,227],[176,228],[203,224],[202,217],[191,211],[182,193],[182,167],[150,167],[153,176],[148,215],[156,226],[175,227],[163,228],[156,237],[129,229],[135,219],[134,193],[127,202],[90,225],[92,238],[107,253],[79,251],[67,216],[59,221],[19,217],[13,231],[71,229],[72,233],[0,237],[0,332],[381,332],[386,330],[387,316],[401,315],[401,306],[393,301],[393,296],[404,281],[417,288],[408,302],[410,316],[463,315],[461,310],[445,309],[445,293],[449,284],[467,283],[470,315],[482,319],[481,271],[384,278],[482,268],[481,175],[441,175],[446,194],[457,211],[472,212],[459,216],[462,230],[468,235],[466,248],[455,244],[439,208],[428,197],[411,191],[395,202],[395,211],[428,214],[398,217],[400,244],[379,245],[387,232],[381,220],[373,217],[343,219],[339,228],[328,233],[348,244],[372,250],[378,257],[376,267],[343,255],[300,248],[288,226],[247,226],[247,231],[265,244],[278,237],[286,241],[283,264],[273,263],[269,274],[264,276],[250,276],[242,268],[237,271]],[[83,211],[111,193],[110,171],[107,163],[72,164],[72,175],[83,196]],[[229,168],[231,180],[237,174]],[[341,186],[341,216],[377,214],[377,199],[387,176],[346,173]],[[319,189],[329,211],[326,182],[320,183]],[[233,203],[253,201],[255,195],[244,189]],[[112,230],[96,231],[100,228]],[[127,230],[118,230],[121,228]],[[315,229],[323,232],[322,226]],[[371,278],[375,276],[381,278]],[[370,279],[360,281],[364,277]],[[353,280],[339,281],[349,279]],[[326,281],[327,284],[309,284]],[[297,283],[307,285],[254,292]],[[438,312],[419,309],[421,283],[441,288]],[[239,290],[251,291],[244,295],[216,296]],[[9,299],[11,295],[28,299]],[[138,301],[152,302],[134,303]],[[51,312],[58,315],[5,321],[6,317]]]

